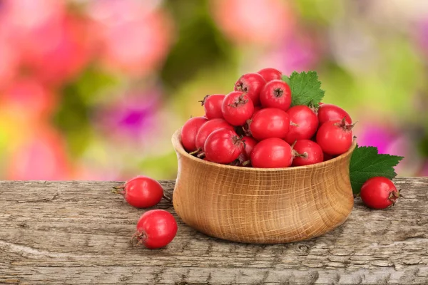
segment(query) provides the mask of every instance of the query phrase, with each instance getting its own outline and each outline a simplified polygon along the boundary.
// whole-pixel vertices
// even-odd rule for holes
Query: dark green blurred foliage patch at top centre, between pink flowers
[[[177,42],[161,71],[165,86],[174,90],[200,71],[233,61],[233,46],[211,19],[208,1],[165,1],[178,26]]]

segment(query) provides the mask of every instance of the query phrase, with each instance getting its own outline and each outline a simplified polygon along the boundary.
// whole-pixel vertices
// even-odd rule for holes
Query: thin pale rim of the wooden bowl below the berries
[[[352,145],[351,145],[350,149],[347,150],[347,152],[342,153],[342,155],[339,155],[335,158],[332,158],[331,160],[315,163],[314,165],[303,165],[303,166],[293,166],[293,167],[276,167],[276,168],[242,167],[242,166],[234,166],[234,165],[222,165],[220,163],[210,162],[208,160],[201,160],[198,157],[194,157],[193,155],[190,155],[188,152],[185,151],[183,145],[181,144],[180,137],[181,137],[181,128],[179,128],[178,130],[175,130],[175,132],[173,133],[173,137],[171,138],[175,151],[180,152],[180,155],[184,155],[185,157],[188,157],[191,160],[194,160],[195,162],[205,163],[206,165],[213,165],[213,166],[221,167],[221,168],[225,168],[225,169],[243,170],[243,171],[277,172],[278,170],[280,170],[280,171],[293,171],[293,170],[302,170],[302,169],[310,169],[310,168],[327,166],[329,164],[334,164],[337,160],[340,160],[343,157],[347,157],[348,155],[352,154],[352,152],[355,150],[355,147],[357,146],[357,141],[354,139],[352,141]]]

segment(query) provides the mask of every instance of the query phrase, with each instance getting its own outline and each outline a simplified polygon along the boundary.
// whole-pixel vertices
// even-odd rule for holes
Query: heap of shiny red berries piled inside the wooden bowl
[[[282,73],[247,73],[228,95],[207,95],[203,117],[181,130],[183,147],[210,162],[246,167],[312,165],[341,155],[352,145],[352,120],[331,105],[292,105]]]

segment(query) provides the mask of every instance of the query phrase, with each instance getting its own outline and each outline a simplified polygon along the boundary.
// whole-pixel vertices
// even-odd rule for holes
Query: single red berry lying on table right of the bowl
[[[384,209],[399,198],[399,191],[387,177],[372,177],[361,187],[360,196],[367,207]]]

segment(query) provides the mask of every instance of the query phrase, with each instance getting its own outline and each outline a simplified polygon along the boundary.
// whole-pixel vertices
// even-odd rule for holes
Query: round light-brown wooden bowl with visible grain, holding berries
[[[173,206],[185,224],[233,242],[279,244],[320,236],[346,221],[354,198],[350,150],[316,165],[220,165],[185,152],[173,135],[178,175]]]

